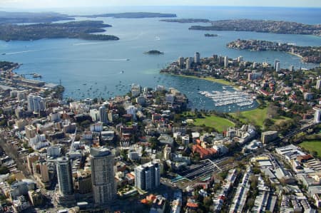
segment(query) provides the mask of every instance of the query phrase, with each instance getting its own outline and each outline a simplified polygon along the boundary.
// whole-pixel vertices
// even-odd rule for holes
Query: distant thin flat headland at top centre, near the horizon
[[[98,17],[113,17],[116,19],[142,19],[142,18],[170,18],[176,17],[176,14],[161,14],[161,13],[148,13],[148,12],[131,12],[131,13],[119,13],[119,14],[98,14],[98,15],[86,15],[81,16],[86,18],[98,18]]]

